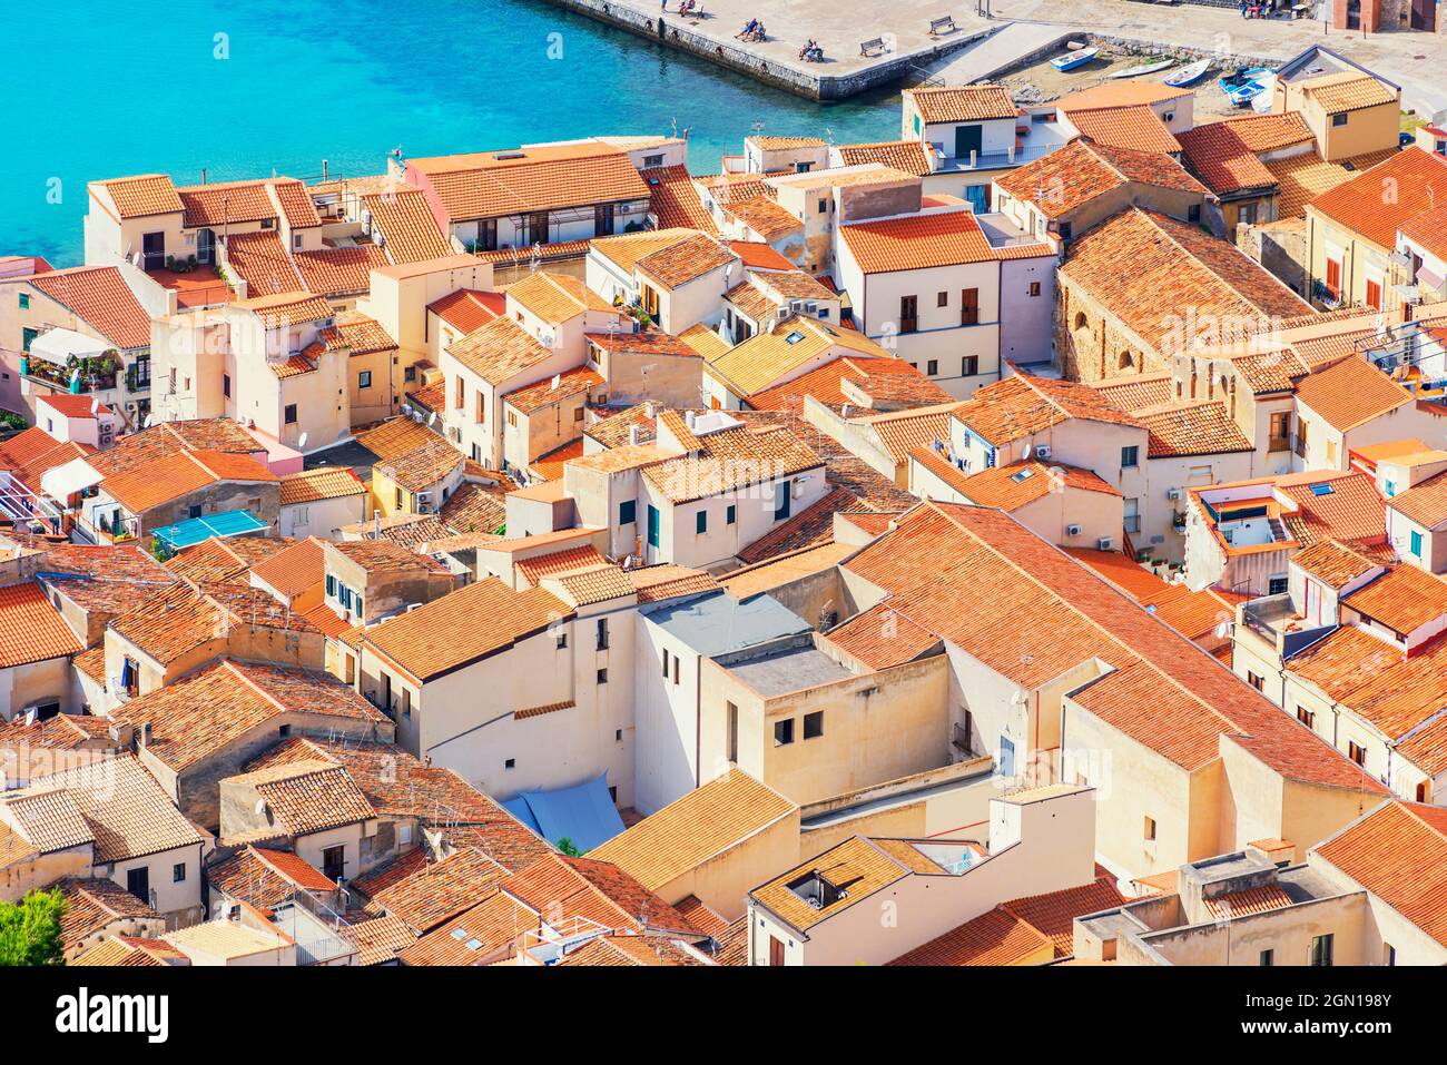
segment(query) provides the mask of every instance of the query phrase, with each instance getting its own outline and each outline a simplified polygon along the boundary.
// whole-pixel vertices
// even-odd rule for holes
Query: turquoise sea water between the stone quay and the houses
[[[59,0],[14,14],[0,30],[0,255],[56,266],[82,258],[97,178],[317,179],[323,159],[334,177],[379,174],[398,145],[440,155],[674,123],[709,174],[755,126],[899,136],[897,94],[815,104],[543,0]]]

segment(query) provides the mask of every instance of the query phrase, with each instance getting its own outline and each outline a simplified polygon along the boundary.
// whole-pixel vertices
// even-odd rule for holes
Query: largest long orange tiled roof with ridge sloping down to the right
[[[844,567],[891,593],[894,609],[910,621],[1022,687],[1101,658],[1116,671],[1075,702],[1178,765],[1215,761],[1226,737],[1288,778],[1379,789],[1210,655],[1010,517],[925,502],[897,525]],[[1037,632],[1051,640],[1042,642]]]

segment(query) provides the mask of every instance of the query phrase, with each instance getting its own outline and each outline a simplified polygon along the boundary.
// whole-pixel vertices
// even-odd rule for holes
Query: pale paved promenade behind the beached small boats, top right
[[[1327,29],[1312,19],[1242,19],[1236,9],[1160,6],[1132,0],[993,0],[997,19],[1078,29],[1117,38],[1289,59],[1321,43],[1402,87],[1418,113],[1447,109],[1447,36],[1360,33]]]

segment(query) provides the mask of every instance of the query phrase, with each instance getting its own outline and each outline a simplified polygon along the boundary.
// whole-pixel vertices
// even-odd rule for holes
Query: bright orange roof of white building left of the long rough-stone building
[[[991,247],[971,211],[861,221],[841,226],[839,236],[865,273],[1053,255],[1045,245]]]

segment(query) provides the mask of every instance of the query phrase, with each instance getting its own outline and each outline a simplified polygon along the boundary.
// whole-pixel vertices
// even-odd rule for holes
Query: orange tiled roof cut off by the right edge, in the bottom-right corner
[[[1389,802],[1314,848],[1447,946],[1447,810]]]

